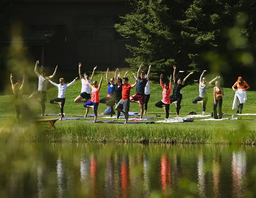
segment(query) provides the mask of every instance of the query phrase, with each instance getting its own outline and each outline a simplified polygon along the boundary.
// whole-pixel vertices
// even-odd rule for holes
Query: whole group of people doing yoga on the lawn
[[[39,61],[36,61],[36,66],[35,66],[35,73],[38,77],[38,90],[33,93],[31,96],[29,96],[29,99],[36,99],[42,106],[42,115],[44,115],[45,112],[45,101],[46,101],[46,90],[47,90],[47,82],[49,81],[52,83],[54,86],[58,87],[58,98],[50,100],[51,104],[58,104],[60,105],[60,120],[63,118],[63,107],[65,104],[65,92],[66,89],[72,85],[78,77],[76,77],[71,83],[65,84],[65,81],[63,78],[60,78],[60,83],[54,83],[50,79],[52,79],[57,71],[57,67],[55,68],[55,71],[53,75],[51,76],[46,76],[45,70],[41,70],[41,73],[39,74],[37,72],[37,65],[39,64]],[[100,88],[102,85],[102,80],[103,80],[103,74],[101,72],[101,79],[100,83],[98,84],[97,81],[93,81],[93,76],[95,73],[95,70],[97,68],[94,67],[92,76],[89,79],[89,73],[85,72],[84,75],[81,74],[81,66],[82,64],[79,63],[79,76],[81,79],[82,83],[82,89],[81,93],[79,96],[76,97],[74,100],[75,103],[84,103],[84,107],[86,108],[86,113],[84,117],[87,117],[89,108],[92,108],[94,111],[94,122],[97,121],[97,116],[98,116],[98,106],[99,103],[104,103],[107,106],[110,106],[111,109],[111,117],[115,114],[114,111],[114,105],[116,105],[115,109],[117,110],[117,119],[120,116],[120,113],[123,113],[125,116],[125,123],[128,121],[129,117],[129,110],[130,110],[130,102],[135,102],[139,103],[140,105],[140,118],[142,118],[143,113],[146,114],[147,112],[147,107],[148,107],[148,101],[150,98],[150,92],[149,92],[149,75],[150,75],[150,68],[151,64],[149,65],[148,68],[148,73],[147,75],[145,74],[144,71],[141,70],[141,67],[143,66],[143,63],[140,64],[140,67],[137,72],[137,76],[134,75],[135,78],[135,83],[134,84],[128,84],[129,79],[126,77],[126,74],[128,71],[125,73],[124,78],[120,78],[120,73],[119,73],[119,68],[116,69],[115,72],[115,77],[114,78],[108,78],[108,72],[109,69],[107,69],[107,74],[106,74],[106,82],[108,85],[108,93],[107,96],[99,99],[99,92]],[[163,88],[163,98],[162,100],[158,101],[155,106],[162,108],[165,111],[165,121],[169,118],[169,109],[170,109],[170,104],[175,104],[176,105],[176,119],[179,117],[180,113],[180,103],[182,100],[182,88],[188,85],[189,83],[186,83],[187,78],[193,74],[193,72],[190,72],[183,80],[180,78],[180,74],[183,73],[184,71],[179,71],[177,76],[176,76],[176,66],[173,66],[173,81],[174,85],[172,86],[172,75],[170,76],[170,82],[169,83],[163,83],[162,78],[163,74],[160,75],[160,84],[161,87]],[[214,104],[213,104],[213,112],[214,112],[214,118],[215,119],[221,119],[222,118],[222,97],[224,95],[223,89],[220,87],[220,83],[217,79],[220,78],[220,76],[216,76],[216,78],[212,79],[209,83],[206,83],[206,79],[204,77],[204,73],[206,70],[203,71],[202,75],[200,76],[199,80],[199,97],[194,99],[192,101],[193,104],[200,103],[202,104],[203,107],[203,112],[202,115],[205,114],[205,109],[206,109],[206,103],[208,100],[207,93],[206,93],[206,88],[215,81],[215,87],[213,88],[213,98],[214,98]],[[24,77],[23,75],[23,82],[21,86],[18,83],[13,84],[12,81],[12,74],[11,74],[11,83],[12,83],[12,90],[14,93],[15,97],[15,109],[16,109],[16,119],[17,122],[19,120],[19,115],[20,115],[20,106],[21,106],[21,101],[19,94],[22,91],[23,84],[24,84]],[[196,80],[194,80],[196,82]],[[130,91],[131,89],[136,86],[136,93],[132,96],[130,96]],[[237,91],[235,87],[237,86],[237,90],[242,90],[245,91],[249,89],[249,85],[243,80],[242,77],[238,77],[238,80],[236,83],[233,85],[232,89],[234,91]],[[173,92],[171,95],[171,91],[173,88]],[[92,90],[92,91],[90,91]],[[92,93],[92,96],[90,94]],[[38,98],[40,100],[38,100]],[[84,99],[84,100],[83,100]],[[238,100],[239,101],[239,100]],[[217,115],[217,105],[219,104],[219,117]],[[145,106],[145,110],[144,110]],[[242,113],[243,109],[243,104],[238,102],[238,108],[237,108],[237,114]]]

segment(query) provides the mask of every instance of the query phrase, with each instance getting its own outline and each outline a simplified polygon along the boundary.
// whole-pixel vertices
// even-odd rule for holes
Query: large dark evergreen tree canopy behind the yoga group
[[[179,69],[230,73],[254,63],[255,1],[129,0],[116,31],[133,41],[131,67],[152,63],[155,77]],[[179,70],[178,69],[178,70]],[[239,74],[235,74],[239,75]],[[241,74],[240,74],[241,75]]]

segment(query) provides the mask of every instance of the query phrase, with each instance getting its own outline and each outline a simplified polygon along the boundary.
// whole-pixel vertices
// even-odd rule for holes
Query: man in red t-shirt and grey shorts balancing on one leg
[[[117,81],[117,83],[122,87],[123,89],[123,95],[122,99],[117,103],[116,110],[120,111],[125,116],[125,123],[127,123],[129,118],[129,109],[130,109],[130,91],[131,89],[137,84],[137,81],[135,81],[134,84],[128,84],[128,78],[123,78],[123,83],[120,83]],[[121,108],[122,107],[122,108]]]

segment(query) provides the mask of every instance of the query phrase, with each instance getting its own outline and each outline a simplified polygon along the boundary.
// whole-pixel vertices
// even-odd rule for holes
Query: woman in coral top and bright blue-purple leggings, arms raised
[[[98,106],[99,106],[99,102],[100,102],[99,92],[100,92],[102,79],[103,79],[103,74],[102,74],[102,72],[100,72],[100,73],[101,73],[101,79],[100,79],[99,86],[98,86],[97,81],[93,81],[93,83],[91,85],[88,81],[88,76],[87,75],[85,76],[86,82],[89,84],[89,86],[92,89],[92,99],[91,99],[91,101],[88,101],[88,102],[84,103],[84,107],[86,107],[86,108],[90,107],[90,108],[93,109],[93,112],[94,112],[94,122],[93,123],[96,123],[96,120],[97,120],[97,117],[98,117]],[[86,116],[87,116],[87,114],[84,117],[86,117]]]

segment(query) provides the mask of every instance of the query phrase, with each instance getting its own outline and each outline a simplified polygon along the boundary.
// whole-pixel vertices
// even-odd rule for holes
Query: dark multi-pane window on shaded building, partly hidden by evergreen
[[[128,40],[116,32],[114,25],[120,23],[119,16],[79,16],[77,39],[84,41]]]

